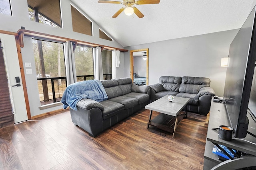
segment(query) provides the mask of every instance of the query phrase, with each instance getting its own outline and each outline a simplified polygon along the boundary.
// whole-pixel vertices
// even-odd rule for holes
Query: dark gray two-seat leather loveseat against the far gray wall
[[[189,98],[187,111],[207,115],[210,111],[214,89],[210,88],[210,79],[204,77],[161,76],[159,83],[150,85],[151,102],[166,95]]]

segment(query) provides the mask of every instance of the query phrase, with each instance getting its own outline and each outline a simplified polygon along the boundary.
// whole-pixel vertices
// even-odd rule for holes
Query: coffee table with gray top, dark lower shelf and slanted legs
[[[158,129],[172,133],[172,138],[174,138],[178,124],[184,116],[187,117],[186,105],[189,98],[174,96],[174,100],[169,102],[167,97],[168,95],[145,106],[146,109],[150,110],[147,129],[149,125],[155,126]],[[182,111],[184,107],[185,111]],[[160,114],[151,120],[153,111],[160,112]]]

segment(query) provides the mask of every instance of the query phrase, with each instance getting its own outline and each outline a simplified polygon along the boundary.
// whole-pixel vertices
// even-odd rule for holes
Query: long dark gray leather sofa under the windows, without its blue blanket
[[[96,137],[102,131],[144,108],[150,102],[150,87],[132,84],[131,78],[102,80],[108,100],[82,99],[77,111],[70,108],[72,122]]]

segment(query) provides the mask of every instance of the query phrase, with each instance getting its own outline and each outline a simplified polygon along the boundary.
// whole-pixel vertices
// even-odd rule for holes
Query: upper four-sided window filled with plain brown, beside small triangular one
[[[71,5],[73,31],[92,35],[92,22]]]

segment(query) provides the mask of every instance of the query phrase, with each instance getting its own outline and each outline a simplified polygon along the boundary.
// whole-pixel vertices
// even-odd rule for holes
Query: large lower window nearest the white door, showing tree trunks
[[[41,105],[59,102],[66,89],[63,43],[33,39]]]

